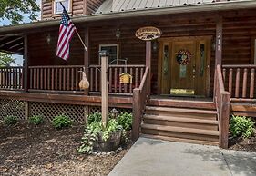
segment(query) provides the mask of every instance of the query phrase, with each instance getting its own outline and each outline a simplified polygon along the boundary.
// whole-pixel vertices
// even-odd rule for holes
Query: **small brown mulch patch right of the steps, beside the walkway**
[[[230,150],[256,152],[256,132],[254,134],[254,137],[251,137],[250,139],[242,139],[241,137],[230,137],[229,145]]]

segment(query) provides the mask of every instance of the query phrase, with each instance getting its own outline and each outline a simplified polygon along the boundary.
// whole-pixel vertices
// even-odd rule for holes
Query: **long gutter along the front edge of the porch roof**
[[[97,22],[101,20],[120,19],[128,17],[141,17],[146,15],[170,15],[170,14],[181,14],[181,13],[193,13],[193,12],[214,12],[224,10],[235,10],[235,9],[249,9],[255,8],[256,1],[234,1],[234,2],[218,2],[210,4],[200,5],[179,5],[179,6],[166,6],[159,8],[148,8],[141,10],[129,10],[124,12],[109,12],[108,14],[93,14],[93,15],[82,15],[72,18],[72,21],[76,23],[85,22]],[[49,21],[39,21],[29,24],[17,24],[0,27],[0,34],[11,34],[14,32],[59,25],[59,19]]]

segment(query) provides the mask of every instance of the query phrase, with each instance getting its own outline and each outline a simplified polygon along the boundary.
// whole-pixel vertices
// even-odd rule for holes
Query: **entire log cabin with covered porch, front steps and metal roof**
[[[60,2],[88,47],[74,35],[67,61],[56,57]],[[24,58],[0,68],[0,118],[66,113],[85,122],[101,108],[106,50],[109,107],[133,113],[135,140],[227,148],[230,115],[256,117],[255,11],[251,0],[42,0],[40,21],[0,27],[0,51]],[[145,26],[161,36],[139,40]],[[87,91],[78,87],[83,69]],[[120,83],[122,73],[132,83]]]

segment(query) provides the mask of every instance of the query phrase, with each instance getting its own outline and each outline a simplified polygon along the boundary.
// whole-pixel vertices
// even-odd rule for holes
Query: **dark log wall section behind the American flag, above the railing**
[[[82,37],[83,30],[78,29]],[[46,36],[51,35],[51,43],[47,44]],[[29,66],[36,65],[79,65],[84,64],[84,48],[77,34],[70,44],[70,57],[67,61],[56,57],[58,29],[55,32],[28,34]]]

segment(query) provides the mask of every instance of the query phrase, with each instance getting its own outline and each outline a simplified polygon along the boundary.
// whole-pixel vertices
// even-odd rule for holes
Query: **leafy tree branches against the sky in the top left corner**
[[[7,18],[12,24],[23,20],[23,15],[29,15],[30,20],[36,20],[36,12],[40,10],[36,0],[0,0],[0,18]]]

